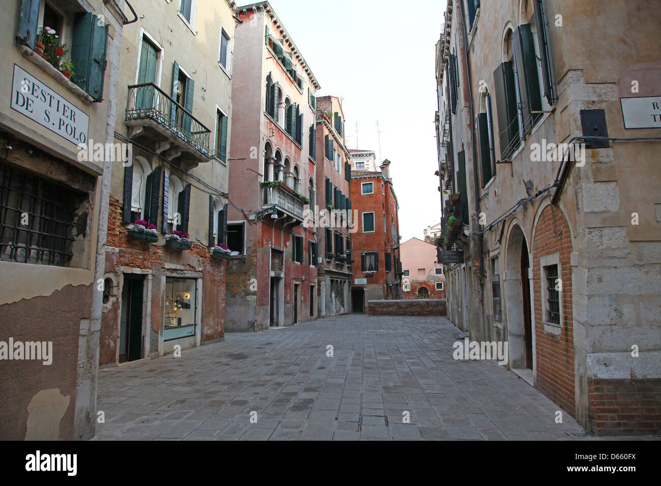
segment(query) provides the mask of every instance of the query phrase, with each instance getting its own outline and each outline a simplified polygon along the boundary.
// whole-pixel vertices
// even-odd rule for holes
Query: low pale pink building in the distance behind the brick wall
[[[446,298],[446,276],[443,264],[436,263],[436,245],[411,238],[401,245],[402,278],[407,299]]]

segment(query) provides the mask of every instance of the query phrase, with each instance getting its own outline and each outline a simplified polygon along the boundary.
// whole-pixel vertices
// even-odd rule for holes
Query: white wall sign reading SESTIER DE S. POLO
[[[11,107],[74,145],[87,143],[89,116],[16,64]]]

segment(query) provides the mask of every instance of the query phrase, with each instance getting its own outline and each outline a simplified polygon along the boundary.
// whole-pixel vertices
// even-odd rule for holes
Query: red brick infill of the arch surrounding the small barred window
[[[555,236],[553,225],[555,214]],[[535,315],[535,350],[537,356],[537,389],[560,405],[572,417],[576,415],[574,395],[574,327],[572,315],[572,252],[571,234],[567,220],[559,208],[547,206],[541,212],[533,242],[533,290]],[[544,329],[540,260],[545,255],[560,253],[558,276],[562,280],[563,319],[561,333],[555,335]]]

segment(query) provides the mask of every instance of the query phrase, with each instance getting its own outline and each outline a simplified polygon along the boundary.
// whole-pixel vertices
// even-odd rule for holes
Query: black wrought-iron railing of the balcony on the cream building
[[[154,83],[128,87],[126,122],[151,120],[170,136],[210,159],[211,130]]]

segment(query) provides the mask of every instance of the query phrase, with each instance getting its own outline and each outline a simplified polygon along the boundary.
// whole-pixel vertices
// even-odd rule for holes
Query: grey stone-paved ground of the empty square
[[[457,332],[444,317],[354,314],[104,368],[95,439],[590,438],[495,361],[454,360]]]

